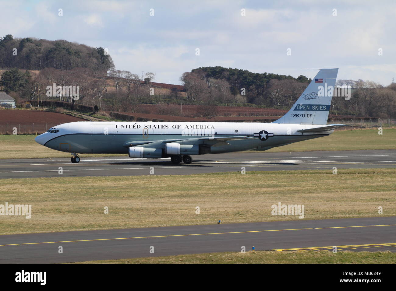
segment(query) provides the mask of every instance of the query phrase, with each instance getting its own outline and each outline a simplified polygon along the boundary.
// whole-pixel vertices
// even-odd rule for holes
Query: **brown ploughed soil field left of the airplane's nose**
[[[18,134],[43,133],[48,128],[58,124],[86,121],[74,116],[57,112],[46,112],[41,110],[0,110],[0,134],[11,134],[13,127],[17,128]]]

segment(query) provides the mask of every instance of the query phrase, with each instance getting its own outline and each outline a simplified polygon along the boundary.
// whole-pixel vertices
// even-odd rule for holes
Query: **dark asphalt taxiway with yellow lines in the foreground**
[[[396,251],[396,217],[211,224],[0,236],[0,263],[308,249]],[[59,247],[63,253],[59,253]],[[154,253],[150,253],[154,249]]]

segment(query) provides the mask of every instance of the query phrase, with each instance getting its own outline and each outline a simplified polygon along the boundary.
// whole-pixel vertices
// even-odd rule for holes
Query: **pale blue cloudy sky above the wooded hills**
[[[337,79],[384,86],[396,78],[393,0],[0,0],[0,7],[0,37],[101,46],[116,69],[155,72],[154,82],[181,84],[183,72],[209,66],[308,78],[316,71],[302,68],[339,68]]]

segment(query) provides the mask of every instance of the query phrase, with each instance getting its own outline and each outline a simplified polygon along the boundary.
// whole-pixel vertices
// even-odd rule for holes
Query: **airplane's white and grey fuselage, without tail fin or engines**
[[[244,122],[71,122],[53,127],[50,132],[36,137],[36,142],[63,152],[119,154],[128,153],[128,147],[135,144],[150,147],[149,144],[154,141],[183,139],[188,141],[176,143],[209,144],[210,153],[221,153],[267,150],[333,132],[309,134],[298,131],[318,126],[320,125]],[[57,132],[51,133],[51,130]],[[226,143],[211,141],[238,136],[249,139],[230,140]],[[199,140],[202,137],[209,139]]]

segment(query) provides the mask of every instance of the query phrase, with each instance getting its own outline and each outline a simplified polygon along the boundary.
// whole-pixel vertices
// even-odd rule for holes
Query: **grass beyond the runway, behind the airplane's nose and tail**
[[[34,141],[36,135],[0,135],[0,159],[64,158],[69,153],[51,150]],[[267,152],[301,152],[312,150],[388,150],[396,149],[396,129],[335,131],[327,137],[301,141],[291,145],[271,148]],[[253,152],[253,151],[252,151]],[[109,156],[108,154],[83,154],[82,157]],[[112,156],[126,156],[116,155]]]

